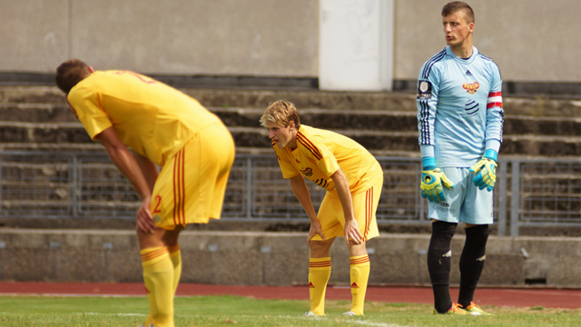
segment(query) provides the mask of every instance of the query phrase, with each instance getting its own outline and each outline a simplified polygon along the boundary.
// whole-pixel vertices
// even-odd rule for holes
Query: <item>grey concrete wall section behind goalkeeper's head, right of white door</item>
[[[494,59],[504,81],[581,81],[581,2],[466,0],[476,15],[474,45]],[[448,0],[397,0],[395,76],[418,78],[419,68],[446,46],[440,15]]]

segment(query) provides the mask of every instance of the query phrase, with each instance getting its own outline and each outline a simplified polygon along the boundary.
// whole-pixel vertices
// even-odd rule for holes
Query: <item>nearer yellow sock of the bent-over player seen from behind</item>
[[[143,282],[149,299],[146,326],[173,326],[173,265],[166,247],[149,248],[142,256]]]

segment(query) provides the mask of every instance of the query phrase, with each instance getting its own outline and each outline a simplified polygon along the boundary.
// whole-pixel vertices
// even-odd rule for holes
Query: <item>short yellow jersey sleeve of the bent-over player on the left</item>
[[[84,87],[74,88],[67,96],[74,114],[84,126],[91,139],[113,126],[109,116],[98,102],[98,94]]]

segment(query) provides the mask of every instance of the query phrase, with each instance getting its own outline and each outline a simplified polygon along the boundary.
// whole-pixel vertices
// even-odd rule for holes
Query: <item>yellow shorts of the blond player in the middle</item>
[[[359,232],[363,235],[363,240],[368,241],[379,236],[378,222],[375,212],[378,209],[379,196],[383,188],[383,178],[380,178],[372,187],[365,192],[351,194],[353,202],[353,212],[355,220],[359,225]],[[325,238],[330,240],[337,236],[345,236],[343,230],[345,226],[345,215],[341,206],[337,192],[327,192],[320,203],[317,218],[320,222]],[[315,235],[312,240],[322,241],[319,235]]]

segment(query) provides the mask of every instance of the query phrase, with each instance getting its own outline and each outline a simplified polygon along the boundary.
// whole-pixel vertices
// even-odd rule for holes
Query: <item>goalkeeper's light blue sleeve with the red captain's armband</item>
[[[491,66],[492,74],[490,81],[490,93],[487,101],[487,148],[496,151],[496,147],[502,144],[502,128],[504,124],[505,112],[502,106],[502,78],[497,64]],[[495,142],[496,141],[496,142]],[[491,145],[488,145],[491,144]]]

